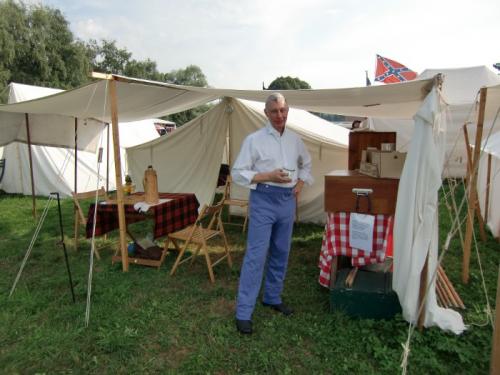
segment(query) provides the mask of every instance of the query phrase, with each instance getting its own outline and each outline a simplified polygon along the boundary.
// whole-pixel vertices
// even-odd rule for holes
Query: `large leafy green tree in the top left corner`
[[[73,88],[87,82],[88,73],[85,45],[59,10],[0,1],[0,92],[12,81]]]

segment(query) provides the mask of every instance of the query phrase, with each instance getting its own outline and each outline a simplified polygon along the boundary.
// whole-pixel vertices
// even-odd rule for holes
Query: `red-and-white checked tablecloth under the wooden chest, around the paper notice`
[[[319,283],[330,286],[330,274],[333,257],[346,255],[351,257],[353,266],[382,263],[387,256],[392,256],[392,216],[374,215],[373,251],[370,253],[349,246],[349,221],[347,212],[328,213],[319,256]],[[388,246],[388,244],[390,246]]]

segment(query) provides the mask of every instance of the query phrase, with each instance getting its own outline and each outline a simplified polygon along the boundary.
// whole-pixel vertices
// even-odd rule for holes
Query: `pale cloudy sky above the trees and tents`
[[[279,76],[314,89],[374,81],[376,55],[421,73],[500,62],[498,0],[43,0],[76,38],[115,40],[160,72],[198,65],[211,87]]]

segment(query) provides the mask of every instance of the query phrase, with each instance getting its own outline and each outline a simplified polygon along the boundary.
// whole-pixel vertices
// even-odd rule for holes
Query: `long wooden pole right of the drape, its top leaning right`
[[[472,159],[471,176],[468,186],[468,209],[467,209],[467,227],[465,231],[464,240],[464,258],[462,262],[462,282],[467,284],[469,282],[469,264],[470,253],[472,244],[472,231],[474,229],[474,210],[477,205],[476,197],[476,184],[477,184],[477,166],[479,164],[479,156],[481,152],[481,140],[483,138],[483,123],[484,111],[486,108],[486,93],[487,89],[483,87],[479,95],[479,114],[477,118],[476,140],[474,145],[474,158]]]

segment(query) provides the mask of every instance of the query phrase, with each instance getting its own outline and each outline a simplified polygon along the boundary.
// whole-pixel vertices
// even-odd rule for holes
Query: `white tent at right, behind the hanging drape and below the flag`
[[[456,69],[427,69],[417,79],[428,79],[436,74],[443,75],[442,94],[448,104],[448,129],[445,141],[445,177],[464,177],[467,167],[467,153],[463,132],[464,124],[469,125],[470,142],[474,143],[476,102],[481,87],[500,84],[500,76],[486,66]],[[368,126],[376,131],[397,132],[397,149],[407,151],[413,135],[413,119],[369,118]],[[489,126],[485,123],[485,129]]]

